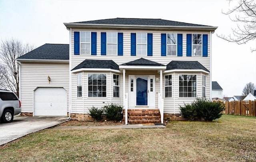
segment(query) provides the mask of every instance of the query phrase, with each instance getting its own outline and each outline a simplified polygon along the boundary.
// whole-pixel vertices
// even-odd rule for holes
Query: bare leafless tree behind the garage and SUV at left
[[[1,40],[2,78],[0,82],[3,82],[3,88],[12,90],[19,95],[19,64],[15,59],[33,49],[34,45],[23,44],[17,39]]]

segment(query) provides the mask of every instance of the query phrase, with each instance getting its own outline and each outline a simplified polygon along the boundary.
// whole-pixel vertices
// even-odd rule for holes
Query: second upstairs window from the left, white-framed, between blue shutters
[[[116,32],[107,32],[107,55],[117,55]]]

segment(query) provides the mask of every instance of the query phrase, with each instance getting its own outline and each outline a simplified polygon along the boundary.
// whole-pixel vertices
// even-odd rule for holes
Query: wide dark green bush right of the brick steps
[[[222,116],[225,110],[224,104],[221,102],[211,102],[206,98],[196,98],[192,104],[185,104],[184,107],[180,106],[181,114],[184,118],[189,120],[206,120],[212,121]]]

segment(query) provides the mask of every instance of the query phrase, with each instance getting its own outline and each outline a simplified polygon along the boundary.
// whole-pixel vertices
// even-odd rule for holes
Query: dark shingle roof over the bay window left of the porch
[[[113,60],[84,60],[78,66],[74,67],[72,70],[77,70],[81,68],[104,68],[119,70],[118,64]],[[71,71],[72,71],[71,70]]]

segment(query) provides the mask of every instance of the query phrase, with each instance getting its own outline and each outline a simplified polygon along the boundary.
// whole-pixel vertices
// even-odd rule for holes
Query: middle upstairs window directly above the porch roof
[[[147,56],[147,33],[137,33],[137,56]]]

